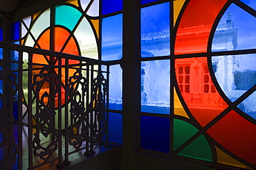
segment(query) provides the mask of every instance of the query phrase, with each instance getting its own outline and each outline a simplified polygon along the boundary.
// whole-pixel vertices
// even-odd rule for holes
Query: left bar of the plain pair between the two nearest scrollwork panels
[[[18,169],[22,169],[22,70],[23,70],[23,52],[19,51],[18,66]]]

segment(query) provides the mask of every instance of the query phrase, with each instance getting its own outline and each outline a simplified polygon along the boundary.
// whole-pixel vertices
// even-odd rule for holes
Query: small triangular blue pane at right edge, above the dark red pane
[[[256,92],[250,94],[243,102],[241,102],[237,107],[248,114],[250,117],[256,119]]]

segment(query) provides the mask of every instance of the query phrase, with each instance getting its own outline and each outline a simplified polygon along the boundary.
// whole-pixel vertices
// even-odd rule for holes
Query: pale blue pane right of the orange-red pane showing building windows
[[[234,102],[256,84],[256,54],[212,56],[219,86]]]

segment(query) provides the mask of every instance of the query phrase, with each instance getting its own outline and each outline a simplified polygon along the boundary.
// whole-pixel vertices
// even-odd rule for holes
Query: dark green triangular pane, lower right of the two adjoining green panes
[[[185,130],[188,131],[188,129]],[[203,135],[196,138],[196,140],[190,143],[188,147],[185,147],[185,149],[180,151],[178,155],[212,161],[212,151],[210,149],[210,145]]]

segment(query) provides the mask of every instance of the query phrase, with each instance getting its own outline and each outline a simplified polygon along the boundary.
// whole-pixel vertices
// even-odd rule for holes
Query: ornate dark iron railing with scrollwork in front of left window
[[[0,169],[63,167],[72,153],[108,143],[109,63],[6,42],[0,48]],[[47,62],[36,63],[38,56]]]

